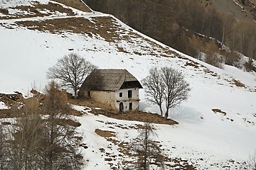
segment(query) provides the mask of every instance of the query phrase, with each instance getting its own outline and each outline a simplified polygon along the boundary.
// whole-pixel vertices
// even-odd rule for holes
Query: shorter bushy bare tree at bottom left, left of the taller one
[[[43,127],[38,114],[38,102],[26,99],[23,108],[18,109],[13,123],[4,126],[4,168],[1,169],[38,169],[40,155],[37,153]],[[7,166],[7,168],[6,168]]]

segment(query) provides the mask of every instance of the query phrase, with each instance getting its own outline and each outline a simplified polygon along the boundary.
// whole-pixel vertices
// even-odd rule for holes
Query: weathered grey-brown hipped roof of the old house
[[[81,91],[118,91],[124,88],[142,89],[139,81],[126,69],[95,69],[87,76]]]

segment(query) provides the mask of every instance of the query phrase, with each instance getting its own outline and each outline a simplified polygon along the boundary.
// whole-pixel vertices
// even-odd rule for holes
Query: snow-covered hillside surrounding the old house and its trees
[[[154,125],[159,135],[156,140],[166,154],[186,159],[197,169],[239,169],[255,153],[255,73],[230,66],[224,69],[210,66],[138,33],[107,14],[85,13],[41,0],[43,4],[60,5],[59,11],[38,7],[37,11],[45,16],[33,13],[27,16],[26,11],[14,8],[18,2],[0,1],[0,8],[11,13],[8,18],[8,13],[0,11],[0,93],[20,91],[28,95],[35,84],[42,90],[48,82],[48,68],[70,52],[100,68],[127,69],[139,80],[147,76],[151,67],[173,67],[185,75],[191,93],[188,101],[171,110],[169,118],[178,121],[178,125]],[[33,3],[26,1],[27,6],[34,6]],[[159,112],[146,102],[143,89],[140,98],[140,109]],[[0,102],[0,109],[5,107]],[[90,113],[79,120],[88,145],[84,150],[89,161],[85,169],[110,169],[107,163],[117,167],[118,162],[131,159],[118,156],[119,144],[136,137],[137,130],[131,127],[142,123]],[[118,142],[100,137],[95,133],[97,128],[113,131],[116,135],[112,138]],[[101,148],[105,152],[100,152]],[[108,162],[107,152],[115,155]]]

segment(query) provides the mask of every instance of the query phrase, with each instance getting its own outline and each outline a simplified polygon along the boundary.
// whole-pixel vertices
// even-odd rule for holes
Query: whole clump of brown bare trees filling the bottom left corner
[[[70,116],[68,98],[58,84],[50,82],[39,106],[24,101],[10,125],[0,124],[0,170],[82,169],[82,137]]]

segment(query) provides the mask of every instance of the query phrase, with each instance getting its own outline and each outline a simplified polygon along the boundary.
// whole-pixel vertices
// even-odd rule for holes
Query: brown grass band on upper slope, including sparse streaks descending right
[[[91,17],[90,20],[82,17],[73,18],[55,18],[45,21],[17,21],[18,26],[24,26],[30,30],[49,31],[50,33],[62,34],[64,32],[85,34],[92,38],[95,37],[104,38],[107,42],[116,43],[117,50],[121,52],[129,53],[123,47],[119,46],[119,41],[127,41],[129,45],[140,47],[141,50],[133,51],[137,55],[155,55],[163,57],[175,57],[178,53],[158,45],[142,35],[122,28],[117,21],[111,16]],[[144,47],[144,42],[149,43],[149,47]],[[143,53],[141,52],[143,51]],[[156,53],[157,52],[157,53]]]

